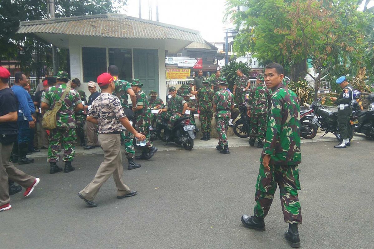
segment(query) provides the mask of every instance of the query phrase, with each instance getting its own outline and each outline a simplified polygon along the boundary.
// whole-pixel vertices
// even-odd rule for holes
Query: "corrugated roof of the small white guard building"
[[[17,33],[175,39],[205,43],[199,31],[117,13],[21,22]]]

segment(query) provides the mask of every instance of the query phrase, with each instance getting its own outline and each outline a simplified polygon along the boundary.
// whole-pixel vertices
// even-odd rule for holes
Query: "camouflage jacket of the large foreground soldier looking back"
[[[270,155],[272,165],[301,163],[300,104],[296,94],[280,84],[269,96],[268,122],[261,155]]]

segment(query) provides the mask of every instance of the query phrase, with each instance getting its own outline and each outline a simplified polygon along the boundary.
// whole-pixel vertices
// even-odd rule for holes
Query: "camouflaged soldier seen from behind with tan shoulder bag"
[[[53,109],[55,103],[61,98],[64,93],[67,83],[69,82],[68,74],[64,71],[59,71],[55,76],[57,84],[53,87],[49,87],[42,94],[42,109],[48,110]],[[59,159],[59,152],[61,144],[64,146],[64,157],[62,161],[65,161],[64,172],[70,172],[74,170],[71,166],[71,162],[75,155],[76,133],[75,133],[75,115],[74,112],[78,112],[83,109],[82,100],[80,100],[79,93],[73,88],[66,94],[62,106],[56,114],[57,128],[53,129],[49,133],[49,148],[47,160],[50,163],[50,174],[62,171],[57,166]]]

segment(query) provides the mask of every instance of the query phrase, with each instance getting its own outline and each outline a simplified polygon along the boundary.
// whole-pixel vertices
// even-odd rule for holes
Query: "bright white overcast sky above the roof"
[[[152,20],[156,21],[156,0],[141,0],[142,18],[150,19],[148,3],[152,5]],[[232,28],[232,24],[223,23],[225,3],[226,0],[158,0],[159,21],[199,30],[209,42],[223,42],[224,30]],[[373,5],[371,0],[368,7]],[[122,13],[139,17],[139,0],[128,0]]]

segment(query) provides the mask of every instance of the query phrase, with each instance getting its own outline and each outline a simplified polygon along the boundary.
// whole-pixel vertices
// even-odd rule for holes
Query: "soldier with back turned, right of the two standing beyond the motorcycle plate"
[[[216,148],[223,154],[230,154],[226,131],[229,128],[231,110],[234,108],[234,96],[226,89],[227,85],[229,84],[226,80],[220,81],[221,90],[215,93],[213,102],[213,109],[217,117],[217,133],[220,138]]]

